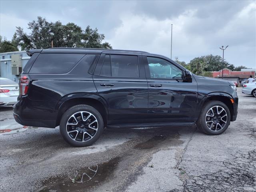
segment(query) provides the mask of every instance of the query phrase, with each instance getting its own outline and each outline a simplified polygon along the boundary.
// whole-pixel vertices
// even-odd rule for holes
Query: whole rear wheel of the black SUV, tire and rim
[[[60,133],[64,140],[75,147],[89,146],[96,142],[103,132],[100,113],[88,105],[69,108],[60,120]]]

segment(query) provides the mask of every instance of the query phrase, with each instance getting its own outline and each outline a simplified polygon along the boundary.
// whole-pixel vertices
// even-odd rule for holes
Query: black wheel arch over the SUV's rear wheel
[[[84,93],[70,94],[63,97],[56,106],[58,110],[56,126],[60,125],[60,119],[62,117],[62,114],[64,114],[66,110],[68,110],[72,106],[79,104],[85,104],[96,108],[96,110],[98,110],[98,112],[100,112],[100,114],[102,115],[104,127],[106,126],[108,120],[107,104],[100,96],[91,93],[86,95],[84,95]]]

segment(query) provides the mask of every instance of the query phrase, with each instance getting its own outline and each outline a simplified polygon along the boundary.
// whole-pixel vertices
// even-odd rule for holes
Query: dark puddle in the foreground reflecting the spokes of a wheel
[[[81,168],[73,177],[48,178],[38,192],[80,192],[108,181],[120,161],[119,157],[92,167]]]

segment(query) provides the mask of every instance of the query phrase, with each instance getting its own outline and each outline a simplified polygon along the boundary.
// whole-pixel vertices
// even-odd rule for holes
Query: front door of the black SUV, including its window
[[[156,121],[196,120],[197,83],[185,70],[164,57],[143,56],[148,80],[148,118]]]

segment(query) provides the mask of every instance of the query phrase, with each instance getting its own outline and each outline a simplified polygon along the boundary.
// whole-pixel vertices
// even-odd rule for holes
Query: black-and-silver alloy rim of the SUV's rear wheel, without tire
[[[98,130],[98,120],[90,112],[76,112],[68,119],[66,132],[68,136],[77,142],[91,140]]]

